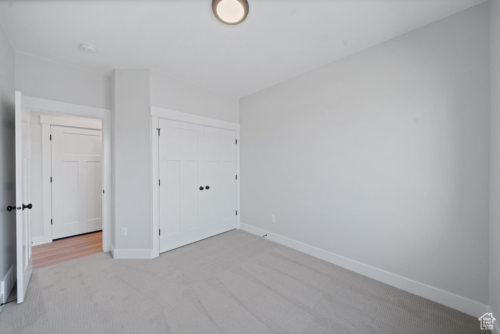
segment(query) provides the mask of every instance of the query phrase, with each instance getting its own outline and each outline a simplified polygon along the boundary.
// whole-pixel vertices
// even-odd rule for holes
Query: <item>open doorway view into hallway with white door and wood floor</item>
[[[30,109],[33,269],[102,251],[100,119]]]

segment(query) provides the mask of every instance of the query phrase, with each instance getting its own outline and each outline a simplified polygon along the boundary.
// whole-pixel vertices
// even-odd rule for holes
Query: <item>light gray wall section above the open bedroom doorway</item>
[[[15,89],[23,95],[110,109],[110,78],[15,52]]]

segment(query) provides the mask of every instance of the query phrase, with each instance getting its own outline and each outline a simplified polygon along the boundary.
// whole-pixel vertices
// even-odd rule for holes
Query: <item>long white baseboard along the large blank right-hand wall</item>
[[[451,308],[457,309],[464,313],[479,317],[486,313],[487,306],[481,304],[480,302],[447,292],[436,287],[432,287],[409,278],[405,278],[394,273],[372,267],[370,265],[351,260],[349,258],[331,253],[329,251],[316,248],[314,246],[289,239],[287,237],[271,233],[269,231],[263,230],[258,227],[254,227],[243,222],[239,223],[239,228],[247,232],[264,235],[267,234],[267,238],[274,242],[280,243],[287,247],[299,250],[306,254],[318,257],[322,260],[328,261],[330,263],[339,265],[346,269],[352,270],[354,272],[360,273],[364,276],[376,279],[383,283],[395,286],[402,290],[411,292],[413,294],[419,295],[421,297],[430,299],[432,301],[438,302],[440,304],[449,306]]]

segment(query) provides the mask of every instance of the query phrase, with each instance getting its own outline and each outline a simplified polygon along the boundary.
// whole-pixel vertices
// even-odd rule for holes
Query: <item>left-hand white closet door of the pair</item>
[[[159,119],[159,251],[205,237],[203,126]],[[200,187],[202,189],[200,190]]]

